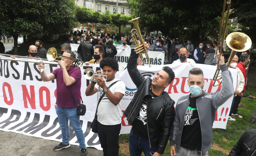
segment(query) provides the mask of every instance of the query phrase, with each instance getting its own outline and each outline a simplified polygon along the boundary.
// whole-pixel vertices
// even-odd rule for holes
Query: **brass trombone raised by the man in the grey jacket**
[[[222,46],[224,43],[226,28],[227,28],[227,24],[228,24],[231,0],[228,0],[227,4],[228,4],[228,10],[227,10],[227,17],[226,17],[226,21],[225,21],[224,30],[223,30],[223,37],[222,37],[222,44],[221,44]],[[216,55],[219,53],[219,56],[222,55],[222,48],[220,48],[220,50],[219,50],[219,42],[220,42],[220,35],[221,35],[221,31],[222,31],[223,19],[224,19],[224,14],[225,14],[225,7],[226,7],[226,0],[224,0],[224,4],[223,4],[222,19],[221,19],[220,28],[219,28],[218,44],[217,44],[217,49],[216,49]],[[250,37],[241,32],[233,32],[233,33],[229,34],[226,38],[226,42],[227,42],[227,46],[232,50],[232,52],[229,56],[229,61],[227,63],[228,67],[231,64],[231,61],[232,61],[233,57],[235,56],[236,52],[247,51],[248,49],[250,49],[250,47],[252,45],[252,41],[251,41]],[[218,61],[219,60],[220,60],[220,57],[218,58]],[[220,68],[219,68],[219,65],[217,64],[217,69],[213,76],[213,81],[214,81],[213,86],[214,87],[218,86],[222,83],[222,82],[220,82],[219,84],[215,85],[216,81],[222,79],[221,75],[219,75],[219,74],[220,74]]]

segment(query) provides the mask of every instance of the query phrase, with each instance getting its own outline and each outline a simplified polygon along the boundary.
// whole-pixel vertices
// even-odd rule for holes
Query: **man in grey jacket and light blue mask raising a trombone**
[[[190,69],[188,85],[191,94],[181,97],[176,105],[170,134],[171,156],[208,156],[217,108],[234,94],[232,76],[223,56],[220,57],[219,67],[223,83],[216,93],[203,91],[204,75],[200,68]]]

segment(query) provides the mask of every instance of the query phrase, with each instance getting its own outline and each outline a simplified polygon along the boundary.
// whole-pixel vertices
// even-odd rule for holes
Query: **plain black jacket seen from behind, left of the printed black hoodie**
[[[77,48],[78,59],[88,62],[92,59],[94,54],[94,48],[92,44],[88,42],[81,43]]]

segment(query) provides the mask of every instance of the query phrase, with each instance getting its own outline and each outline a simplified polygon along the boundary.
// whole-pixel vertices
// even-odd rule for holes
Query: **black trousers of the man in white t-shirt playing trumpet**
[[[98,136],[103,156],[118,156],[119,150],[119,134],[121,124],[118,125],[102,125],[98,124]]]

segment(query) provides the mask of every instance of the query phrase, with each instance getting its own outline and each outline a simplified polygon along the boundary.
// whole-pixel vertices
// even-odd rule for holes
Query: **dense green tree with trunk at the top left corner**
[[[0,12],[0,31],[14,37],[14,55],[20,34],[50,38],[76,24],[73,0],[1,0]]]

